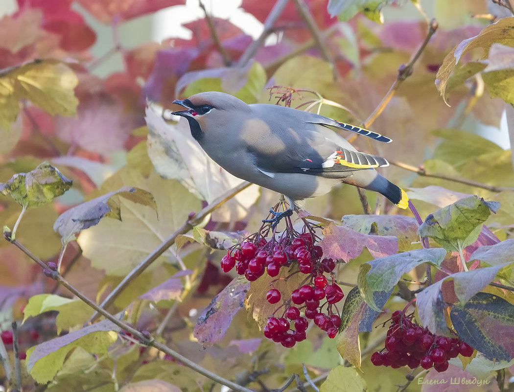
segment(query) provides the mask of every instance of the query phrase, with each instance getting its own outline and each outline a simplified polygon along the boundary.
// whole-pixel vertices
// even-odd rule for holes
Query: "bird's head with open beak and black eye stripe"
[[[219,91],[199,92],[173,103],[186,110],[172,112],[172,115],[185,117],[196,140],[203,138],[209,129],[227,126],[238,114],[249,110],[249,106],[238,98]]]

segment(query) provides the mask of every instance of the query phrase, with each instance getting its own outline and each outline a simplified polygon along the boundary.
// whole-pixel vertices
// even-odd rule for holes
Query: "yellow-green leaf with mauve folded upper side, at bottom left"
[[[118,338],[118,334],[113,331],[119,331],[119,328],[111,321],[103,320],[31,347],[27,351],[27,370],[37,382],[47,383],[53,379],[69,351],[75,347],[84,347],[94,354],[106,354],[107,348]]]

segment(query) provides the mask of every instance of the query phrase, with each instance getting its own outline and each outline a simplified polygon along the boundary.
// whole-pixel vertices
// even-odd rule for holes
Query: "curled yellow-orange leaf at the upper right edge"
[[[435,85],[445,102],[447,89],[464,83],[475,73],[486,68],[488,63],[486,59],[489,57],[490,49],[493,44],[496,43],[514,47],[514,38],[512,38],[511,34],[512,26],[514,26],[514,17],[500,18],[497,22],[486,26],[478,35],[462,41],[446,55],[435,77]],[[476,51],[476,49],[479,48],[481,50]],[[469,61],[472,53],[480,53],[476,61]],[[490,70],[494,71],[494,63],[497,63],[499,59],[498,53],[493,52],[492,54],[493,64]],[[494,80],[494,77],[495,76],[492,76],[490,80],[493,86],[494,83],[497,82],[497,80]],[[504,78],[500,77],[500,79]],[[511,82],[507,82],[506,84],[511,86]],[[498,86],[498,88],[502,87]],[[506,94],[508,95],[509,93],[506,92]],[[497,96],[500,96],[498,92]]]

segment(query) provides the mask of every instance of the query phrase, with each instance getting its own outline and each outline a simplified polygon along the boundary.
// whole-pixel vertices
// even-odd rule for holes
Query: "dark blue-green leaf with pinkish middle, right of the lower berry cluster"
[[[459,337],[486,358],[514,358],[514,305],[503,298],[478,293],[463,307],[453,306],[450,318]]]

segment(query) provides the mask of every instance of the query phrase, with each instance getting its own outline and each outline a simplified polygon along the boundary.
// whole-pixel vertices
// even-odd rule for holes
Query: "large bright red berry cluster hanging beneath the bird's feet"
[[[301,286],[287,298],[277,288],[266,294],[268,303],[280,305],[264,326],[264,336],[284,347],[293,347],[296,342],[306,339],[309,320],[313,320],[330,338],[335,338],[341,325],[336,304],[344,294],[334,279],[336,262],[323,257],[323,249],[316,245],[319,237],[314,229],[317,227],[305,220],[304,223],[302,233],[286,225],[279,238],[273,230],[269,240],[266,235],[270,230],[266,231],[266,225],[263,225],[258,233],[230,249],[221,261],[224,272],[235,267],[235,271],[245,275],[250,282],[265,273],[271,277],[278,276],[281,269],[287,270],[287,278],[296,273],[306,275]],[[277,317],[276,313],[281,309],[282,315]]]

